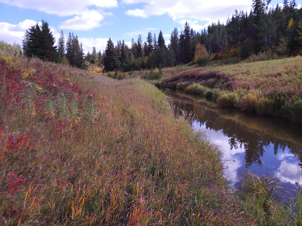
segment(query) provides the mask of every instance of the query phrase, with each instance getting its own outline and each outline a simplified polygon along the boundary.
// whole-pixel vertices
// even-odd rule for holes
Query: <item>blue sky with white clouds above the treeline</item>
[[[162,30],[168,44],[172,30],[180,31],[186,21],[201,32],[212,22],[225,23],[235,10],[249,12],[251,5],[252,0],[0,0],[0,40],[22,45],[26,29],[43,19],[56,40],[61,30],[65,38],[77,35],[85,53],[93,46],[104,50],[109,38],[130,46],[141,34],[146,41],[149,31],[158,37]]]

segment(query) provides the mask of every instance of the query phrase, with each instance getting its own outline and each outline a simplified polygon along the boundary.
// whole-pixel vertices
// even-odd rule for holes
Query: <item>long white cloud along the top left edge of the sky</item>
[[[20,8],[36,9],[57,16],[81,15],[89,7],[112,8],[118,6],[117,0],[0,0],[0,2]]]

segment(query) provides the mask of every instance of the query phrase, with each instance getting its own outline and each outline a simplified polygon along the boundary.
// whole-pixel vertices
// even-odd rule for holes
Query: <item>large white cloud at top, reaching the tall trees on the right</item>
[[[143,8],[127,10],[125,13],[130,16],[146,18],[152,15],[168,14],[174,21],[191,21],[190,27],[195,30],[201,30],[206,24],[213,21],[226,23],[228,15],[232,15],[237,10],[249,10],[251,0],[233,0],[233,1],[205,1],[205,0],[123,0],[124,4],[145,4]],[[198,21],[206,21],[204,24],[198,24]],[[182,24],[182,23],[181,23]]]

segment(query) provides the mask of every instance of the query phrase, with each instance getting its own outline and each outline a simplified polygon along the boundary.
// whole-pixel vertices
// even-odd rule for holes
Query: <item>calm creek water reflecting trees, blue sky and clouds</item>
[[[275,175],[296,190],[302,181],[302,130],[280,118],[215,108],[197,96],[168,90],[176,107],[195,114],[196,131],[205,132],[224,151],[224,174],[231,187],[240,186],[247,171]],[[301,181],[300,181],[301,180]]]

